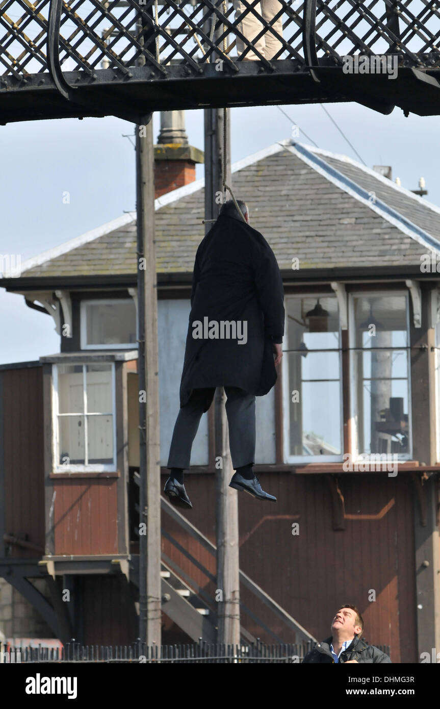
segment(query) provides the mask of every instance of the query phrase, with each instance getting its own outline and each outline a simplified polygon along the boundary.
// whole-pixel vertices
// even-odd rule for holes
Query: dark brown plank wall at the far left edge
[[[0,372],[4,533],[44,550],[43,374],[41,367]],[[13,545],[10,557],[39,557]]]

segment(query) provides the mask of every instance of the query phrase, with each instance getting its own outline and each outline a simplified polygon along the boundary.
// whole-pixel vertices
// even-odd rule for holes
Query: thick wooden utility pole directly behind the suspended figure
[[[227,111],[230,122],[230,111]],[[227,135],[230,136],[228,125]],[[216,219],[223,203],[223,109],[205,109],[205,219]],[[231,185],[230,141],[226,182]],[[205,225],[208,232],[212,223]],[[239,644],[239,536],[237,490],[230,488],[234,473],[229,450],[225,390],[215,391],[215,519],[217,537],[218,642]]]

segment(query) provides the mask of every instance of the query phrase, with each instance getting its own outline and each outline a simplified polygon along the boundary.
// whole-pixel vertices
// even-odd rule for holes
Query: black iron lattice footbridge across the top
[[[357,101],[440,113],[428,0],[0,0],[0,123]]]

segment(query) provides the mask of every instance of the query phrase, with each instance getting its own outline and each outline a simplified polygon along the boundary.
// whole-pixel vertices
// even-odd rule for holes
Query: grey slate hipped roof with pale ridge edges
[[[232,166],[237,199],[281,269],[419,265],[440,253],[440,209],[342,155],[291,140]],[[371,193],[374,193],[372,201]],[[204,180],[156,200],[157,272],[192,272],[204,235]],[[132,274],[135,214],[23,264],[23,276]]]

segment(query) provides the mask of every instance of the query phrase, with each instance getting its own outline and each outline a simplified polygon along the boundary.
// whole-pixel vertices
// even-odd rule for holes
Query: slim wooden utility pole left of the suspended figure
[[[162,630],[159,355],[152,114],[145,116],[142,125],[136,126],[136,186],[141,523],[139,633],[141,642],[159,646]]]

